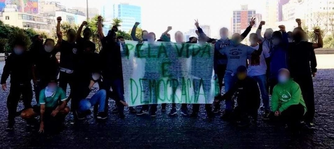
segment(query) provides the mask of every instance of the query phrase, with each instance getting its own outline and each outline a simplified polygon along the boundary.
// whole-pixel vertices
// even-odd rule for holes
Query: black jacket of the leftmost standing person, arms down
[[[6,59],[1,76],[1,84],[5,84],[10,75],[10,83],[25,84],[32,79],[32,58],[28,51],[21,55],[14,52]]]

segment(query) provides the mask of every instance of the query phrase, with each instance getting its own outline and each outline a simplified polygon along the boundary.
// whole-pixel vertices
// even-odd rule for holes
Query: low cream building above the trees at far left
[[[39,32],[50,33],[49,19],[34,14],[18,12],[14,8],[4,8],[2,13],[2,21],[4,24],[16,26],[23,29],[33,28]]]

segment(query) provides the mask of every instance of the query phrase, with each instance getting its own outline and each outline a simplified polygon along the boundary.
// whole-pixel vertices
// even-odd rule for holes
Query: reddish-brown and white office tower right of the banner
[[[248,10],[248,5],[241,5],[241,10],[234,10],[232,17],[232,33],[240,33],[249,26],[252,17],[256,17],[254,9]]]

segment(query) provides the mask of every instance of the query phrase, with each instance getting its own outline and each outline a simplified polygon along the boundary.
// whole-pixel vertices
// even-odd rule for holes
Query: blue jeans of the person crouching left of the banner
[[[89,110],[92,106],[99,103],[99,112],[105,111],[107,92],[102,89],[93,95],[92,98],[82,99],[79,102],[79,112],[84,112]]]

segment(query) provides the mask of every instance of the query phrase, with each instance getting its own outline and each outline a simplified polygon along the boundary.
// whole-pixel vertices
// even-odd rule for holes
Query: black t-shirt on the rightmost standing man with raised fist
[[[312,45],[313,43],[306,41],[289,43],[288,66],[292,77],[310,75],[311,69],[316,72],[317,62]]]

